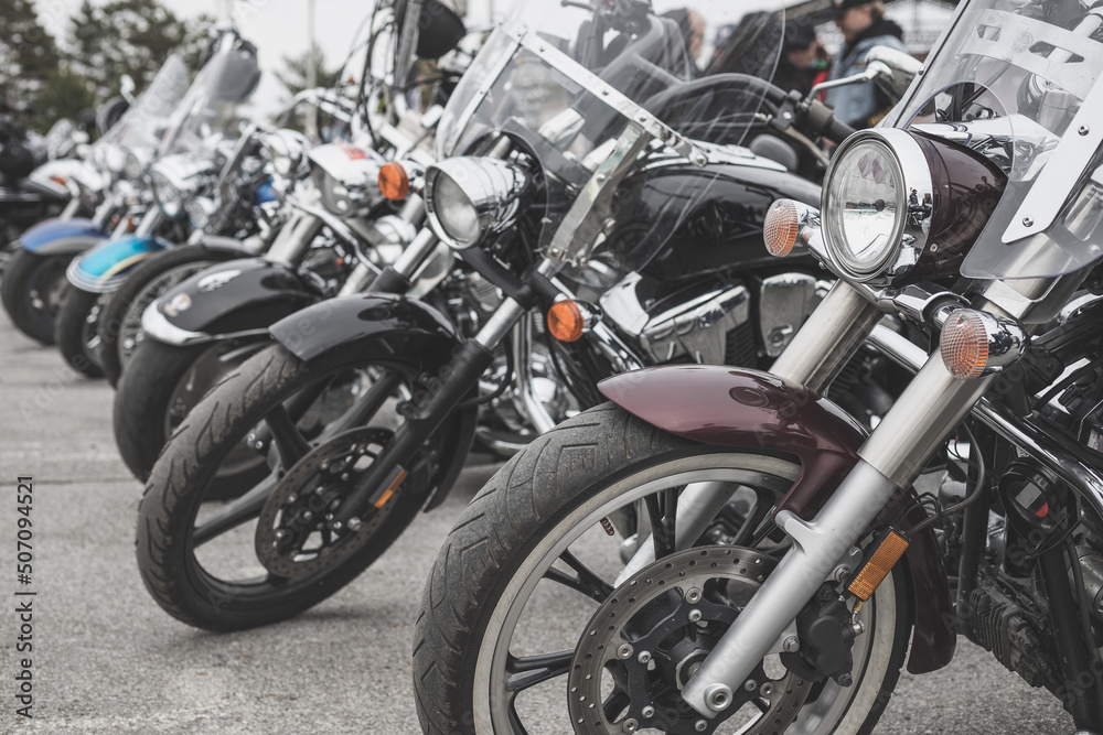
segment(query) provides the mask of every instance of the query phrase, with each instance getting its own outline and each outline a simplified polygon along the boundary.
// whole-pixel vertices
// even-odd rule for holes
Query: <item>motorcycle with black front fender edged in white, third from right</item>
[[[430,41],[451,40],[443,45],[416,44],[416,54],[440,56],[462,35],[456,31],[462,30],[462,23],[445,6],[429,3],[429,8],[426,17],[432,21],[422,31]],[[386,29],[393,20],[393,15],[381,17],[375,26]],[[433,23],[443,23],[448,33]],[[378,41],[374,33],[373,37]],[[373,87],[385,84],[381,67],[386,65],[368,55],[364,75],[375,80]],[[362,97],[373,94],[365,91]],[[328,104],[326,96],[314,101]],[[393,201],[388,199],[378,181],[392,155],[404,158],[407,165],[399,170],[393,164],[388,171],[407,179],[407,169],[424,169],[432,161],[431,152],[418,142],[431,136],[431,130],[420,127],[420,119],[413,110],[393,119],[383,116],[371,125],[353,116],[347,120],[352,130],[368,128],[375,134],[371,142],[366,136],[357,137],[360,145],[331,143],[309,149],[286,136],[272,141],[283,151],[278,165],[295,172],[299,181],[283,196],[287,221],[271,250],[195,273],[168,290],[142,315],[142,342],[132,358],[136,369],[119,382],[114,408],[116,444],[136,477],[149,476],[173,429],[199,399],[270,343],[268,327],[323,299],[354,294],[370,283],[375,288],[381,270],[414,240],[425,218],[420,198],[392,191]],[[318,242],[334,240],[345,251],[340,279],[320,279],[319,267],[328,261],[311,253]],[[407,283],[405,289],[428,292],[448,273],[448,261],[446,249],[421,270],[416,287]],[[211,283],[218,287],[211,288]],[[256,466],[255,451],[246,447],[243,454],[236,468],[219,472],[221,486],[244,483],[240,473]]]

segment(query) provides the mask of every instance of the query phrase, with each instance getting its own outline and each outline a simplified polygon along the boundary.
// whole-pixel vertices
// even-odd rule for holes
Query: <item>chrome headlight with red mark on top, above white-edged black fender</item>
[[[383,159],[347,143],[319,145],[310,151],[311,176],[322,206],[339,217],[351,217],[383,202],[379,169]]]

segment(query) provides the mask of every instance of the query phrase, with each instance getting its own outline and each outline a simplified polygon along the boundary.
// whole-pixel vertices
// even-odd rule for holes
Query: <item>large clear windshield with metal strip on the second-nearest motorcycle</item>
[[[450,97],[438,155],[461,155],[486,132],[520,128],[535,147],[583,162],[629,121],[615,100],[591,91],[591,75],[687,137],[740,142],[762,90],[713,73],[770,78],[781,13],[751,13],[751,3],[732,0],[593,4],[556,3],[549,12],[546,0],[520,0]]]

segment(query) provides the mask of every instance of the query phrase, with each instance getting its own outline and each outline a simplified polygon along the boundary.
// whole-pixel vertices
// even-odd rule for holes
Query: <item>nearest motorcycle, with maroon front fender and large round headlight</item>
[[[427,732],[868,733],[957,635],[1103,732],[1101,28],[963,2],[771,208],[839,279],[772,371],[618,376],[503,467],[422,597]],[[867,338],[914,372],[871,432],[823,397]]]

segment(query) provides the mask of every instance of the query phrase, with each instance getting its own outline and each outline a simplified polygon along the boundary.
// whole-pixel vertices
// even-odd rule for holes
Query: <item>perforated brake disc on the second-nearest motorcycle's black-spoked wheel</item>
[[[395,506],[392,495],[365,518],[334,520],[390,441],[386,429],[356,429],[330,439],[300,460],[260,511],[257,558],[278,576],[295,579],[342,563],[372,538]]]

